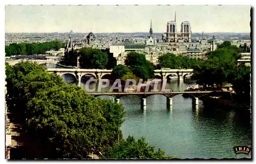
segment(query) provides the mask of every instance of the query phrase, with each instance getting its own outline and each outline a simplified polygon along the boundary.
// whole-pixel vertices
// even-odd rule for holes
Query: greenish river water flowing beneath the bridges
[[[67,83],[73,82],[72,75],[65,75]],[[76,82],[73,82],[76,85]],[[84,81],[81,87],[84,89]],[[183,91],[195,81],[171,80],[166,88]],[[110,96],[100,96],[110,99]],[[166,107],[166,98],[152,95],[146,98],[146,110],[141,110],[140,98],[136,95],[123,96],[120,103],[126,111],[121,127],[123,137],[145,136],[147,143],[160,147],[167,155],[179,158],[251,158],[251,153],[236,155],[234,146],[251,147],[252,132],[250,115],[232,110],[206,108],[199,100],[193,107],[191,98],[182,95],[173,97],[173,107]],[[248,111],[247,111],[248,112]]]

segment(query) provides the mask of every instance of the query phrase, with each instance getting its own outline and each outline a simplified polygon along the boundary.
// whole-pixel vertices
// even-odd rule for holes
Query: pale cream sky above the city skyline
[[[180,31],[189,21],[193,33],[250,32],[250,6],[5,6],[6,33],[166,32],[174,20]]]

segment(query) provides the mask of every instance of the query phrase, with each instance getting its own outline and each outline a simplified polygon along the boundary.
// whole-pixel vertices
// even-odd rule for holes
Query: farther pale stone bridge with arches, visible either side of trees
[[[54,72],[57,75],[72,74],[77,81],[81,81],[82,76],[92,75],[100,80],[104,75],[111,74],[112,70],[106,69],[69,69],[69,68],[48,68],[49,72]],[[155,77],[168,79],[170,76],[178,76],[179,81],[183,81],[186,75],[193,74],[193,69],[169,69],[169,70],[154,70]]]

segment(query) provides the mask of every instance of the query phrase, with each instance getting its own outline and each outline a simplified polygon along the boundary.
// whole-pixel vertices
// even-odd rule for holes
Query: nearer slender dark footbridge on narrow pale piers
[[[115,98],[117,103],[120,102],[120,98],[125,95],[138,95],[141,98],[141,108],[146,108],[146,97],[151,95],[163,95],[166,97],[166,105],[167,108],[171,108],[173,105],[173,96],[178,94],[187,94],[193,98],[193,105],[199,104],[199,98],[210,93],[226,93],[228,91],[181,91],[181,92],[109,92],[109,93],[99,93],[99,92],[91,92],[88,93],[91,96],[112,96]]]

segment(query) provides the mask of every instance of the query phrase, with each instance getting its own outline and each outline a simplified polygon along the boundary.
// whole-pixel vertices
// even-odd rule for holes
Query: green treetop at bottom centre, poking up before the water
[[[104,159],[171,159],[172,157],[164,155],[164,151],[146,143],[142,137],[138,141],[134,136],[128,136],[126,140],[122,140],[115,144],[111,150],[103,157]]]

